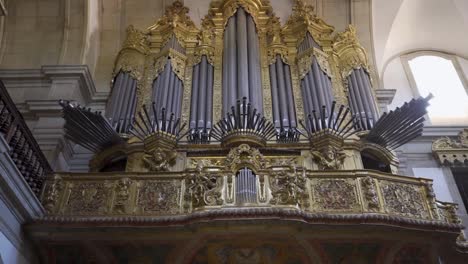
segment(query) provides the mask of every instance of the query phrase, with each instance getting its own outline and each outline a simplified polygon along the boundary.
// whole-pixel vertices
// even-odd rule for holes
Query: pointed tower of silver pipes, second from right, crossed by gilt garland
[[[320,46],[314,41],[312,36],[307,33],[304,41],[298,47],[299,54],[311,48],[320,48]],[[331,108],[334,100],[331,79],[320,68],[315,56],[313,57],[309,72],[301,80],[301,90],[306,116],[313,115],[314,112],[317,114],[320,113],[322,106],[325,106],[327,111]],[[327,112],[325,117],[328,120]],[[318,119],[321,119],[321,117],[318,116]]]

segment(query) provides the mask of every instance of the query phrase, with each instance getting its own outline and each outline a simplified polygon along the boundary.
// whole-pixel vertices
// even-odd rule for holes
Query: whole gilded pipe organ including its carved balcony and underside
[[[197,27],[174,1],[146,30],[129,27],[106,112],[60,102],[66,138],[93,152],[90,172],[48,177],[48,215],[26,227],[58,246],[57,236],[68,234],[75,246],[76,236],[89,241],[104,227],[111,239],[93,243],[120,252],[127,241],[135,263],[146,261],[140,253],[154,238],[164,242],[161,252],[167,240],[176,257],[180,249],[193,257],[230,251],[198,242],[232,244],[235,235],[239,261],[216,253],[233,263],[244,255],[276,261],[260,261],[249,247],[282,256],[278,263],[291,260],[285,252],[309,256],[307,241],[334,254],[340,250],[329,247],[330,237],[350,248],[369,230],[365,244],[380,245],[379,255],[397,252],[406,238],[411,248],[416,241],[430,252],[455,250],[462,229],[456,205],[436,200],[432,180],[397,174],[395,149],[422,134],[430,96],[378,113],[356,30],[335,32],[304,2],[295,0],[281,24],[268,0],[213,0]],[[270,250],[293,237],[298,246],[285,240],[284,251]],[[263,240],[265,247],[256,246]],[[167,262],[220,262],[200,256]]]

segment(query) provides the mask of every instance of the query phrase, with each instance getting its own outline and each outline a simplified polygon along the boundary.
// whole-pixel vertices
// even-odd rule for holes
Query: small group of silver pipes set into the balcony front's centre
[[[236,203],[257,203],[257,177],[249,168],[240,169],[236,175]]]

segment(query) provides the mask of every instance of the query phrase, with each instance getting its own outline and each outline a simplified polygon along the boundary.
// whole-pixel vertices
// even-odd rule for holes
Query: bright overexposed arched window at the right
[[[434,95],[428,115],[431,123],[454,124],[468,120],[468,93],[452,59],[421,55],[408,60],[420,96]]]

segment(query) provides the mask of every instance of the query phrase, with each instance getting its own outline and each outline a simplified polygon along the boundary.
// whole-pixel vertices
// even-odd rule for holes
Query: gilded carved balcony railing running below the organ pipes
[[[43,204],[53,219],[287,213],[305,221],[358,220],[460,228],[456,205],[436,201],[432,182],[378,171],[256,171],[257,202],[239,204],[236,174],[226,169],[160,173],[59,173]],[[251,209],[249,211],[249,209]]]

